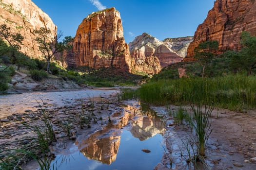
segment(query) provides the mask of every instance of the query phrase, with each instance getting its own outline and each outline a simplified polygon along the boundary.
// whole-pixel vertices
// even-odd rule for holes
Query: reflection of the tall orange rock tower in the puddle
[[[110,165],[117,158],[120,140],[121,136],[117,131],[99,131],[79,143],[78,147],[85,146],[80,152],[87,158]]]

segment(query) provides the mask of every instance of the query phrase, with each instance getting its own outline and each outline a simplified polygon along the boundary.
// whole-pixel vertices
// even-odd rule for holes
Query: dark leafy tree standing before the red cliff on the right
[[[199,64],[202,66],[202,78],[204,77],[204,70],[206,66],[215,56],[218,50],[217,41],[205,41],[200,43],[197,48],[195,48],[195,58],[198,60]]]

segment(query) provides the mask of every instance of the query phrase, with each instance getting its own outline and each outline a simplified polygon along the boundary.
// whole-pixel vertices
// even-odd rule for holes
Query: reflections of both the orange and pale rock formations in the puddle
[[[84,156],[107,165],[116,161],[123,133],[122,129],[129,124],[129,120],[132,120],[131,125],[125,127],[125,129],[128,129],[132,136],[140,141],[144,141],[157,134],[161,136],[164,134],[165,124],[157,116],[156,112],[149,107],[144,105],[144,107],[140,108],[137,104],[136,106],[123,106],[123,109],[122,113],[117,112],[112,115],[112,119],[115,119],[116,123],[92,134],[84,140],[78,139],[76,141],[79,151]]]

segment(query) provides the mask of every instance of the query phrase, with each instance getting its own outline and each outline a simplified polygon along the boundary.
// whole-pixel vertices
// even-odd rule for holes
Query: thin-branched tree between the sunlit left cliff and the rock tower
[[[70,49],[72,45],[70,42],[73,40],[71,36],[66,36],[62,42],[60,38],[63,36],[62,32],[59,32],[55,38],[51,38],[51,30],[41,27],[39,30],[34,30],[37,35],[36,41],[39,44],[39,51],[42,52],[44,58],[47,61],[46,71],[50,73],[50,60],[54,54],[62,52],[65,49]]]

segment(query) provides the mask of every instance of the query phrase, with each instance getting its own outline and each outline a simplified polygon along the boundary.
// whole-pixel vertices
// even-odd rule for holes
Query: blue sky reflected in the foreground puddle
[[[162,139],[162,135],[157,134],[140,141],[131,132],[123,130],[117,159],[111,165],[87,159],[79,152],[71,154],[72,158],[62,164],[61,156],[55,161],[58,160],[58,170],[153,170],[163,155]],[[149,149],[151,153],[144,153],[141,149]]]

